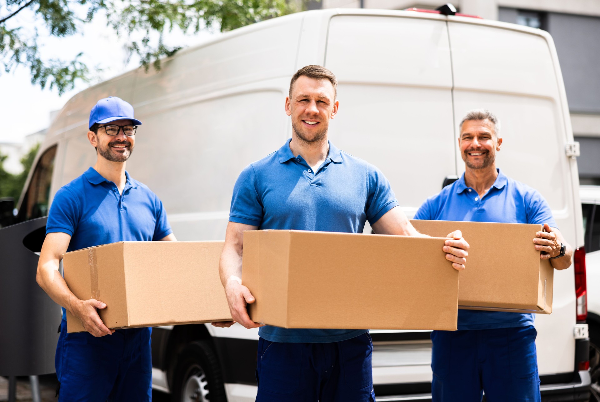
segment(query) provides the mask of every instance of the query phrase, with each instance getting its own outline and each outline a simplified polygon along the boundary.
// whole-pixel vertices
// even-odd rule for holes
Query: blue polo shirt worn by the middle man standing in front
[[[242,171],[233,188],[229,220],[259,229],[362,233],[398,206],[388,179],[373,165],[329,142],[325,162],[313,172],[292,154],[290,140]],[[366,329],[285,329],[263,326],[272,342],[337,342]]]

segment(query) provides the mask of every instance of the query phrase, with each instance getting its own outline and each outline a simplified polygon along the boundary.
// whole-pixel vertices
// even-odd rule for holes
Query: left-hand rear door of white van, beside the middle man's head
[[[414,214],[456,172],[445,20],[334,16],[325,66],[340,100],[329,138],[379,167]]]

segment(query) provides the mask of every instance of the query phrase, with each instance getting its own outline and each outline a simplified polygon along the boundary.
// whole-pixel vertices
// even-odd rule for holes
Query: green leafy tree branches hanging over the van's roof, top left
[[[19,64],[26,65],[32,83],[63,94],[79,80],[87,81],[90,71],[80,61],[81,53],[73,61],[42,58],[38,29],[66,37],[82,30],[94,17],[106,16],[107,26],[128,38],[129,58],[139,57],[146,71],[150,65],[160,70],[160,59],[181,49],[164,44],[164,35],[175,27],[185,34],[212,26],[230,31],[298,11],[293,4],[293,0],[0,0],[0,65],[7,73]],[[22,13],[32,13],[40,22],[34,32],[25,32],[19,25]]]

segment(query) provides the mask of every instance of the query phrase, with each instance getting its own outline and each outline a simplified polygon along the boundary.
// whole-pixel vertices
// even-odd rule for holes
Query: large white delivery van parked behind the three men
[[[159,73],[137,69],[80,92],[48,130],[19,220],[46,214],[53,194],[94,163],[88,113],[115,95],[143,121],[128,171],[163,200],[177,238],[223,239],[239,172],[290,137],[284,98],[292,74],[307,64],[325,65],[340,83],[332,142],[378,166],[409,217],[461,175],[457,124],[467,110],[484,107],[502,122],[499,167],[538,189],[567,241],[583,246],[577,161],[566,154],[571,122],[550,35],[416,11],[280,17],[182,50]],[[583,258],[583,250],[575,253]],[[542,395],[584,401],[585,295],[575,293],[573,268],[554,275],[553,313],[536,317]],[[429,332],[371,334],[377,400],[430,398]],[[256,347],[257,331],[238,325],[155,328],[154,385],[175,400],[253,401]]]

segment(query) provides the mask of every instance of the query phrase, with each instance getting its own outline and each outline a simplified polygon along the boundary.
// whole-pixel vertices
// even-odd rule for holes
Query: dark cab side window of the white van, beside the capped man
[[[55,157],[56,145],[47,149],[38,159],[34,174],[31,176],[31,181],[29,181],[29,187],[19,208],[17,222],[48,215],[48,200]]]

